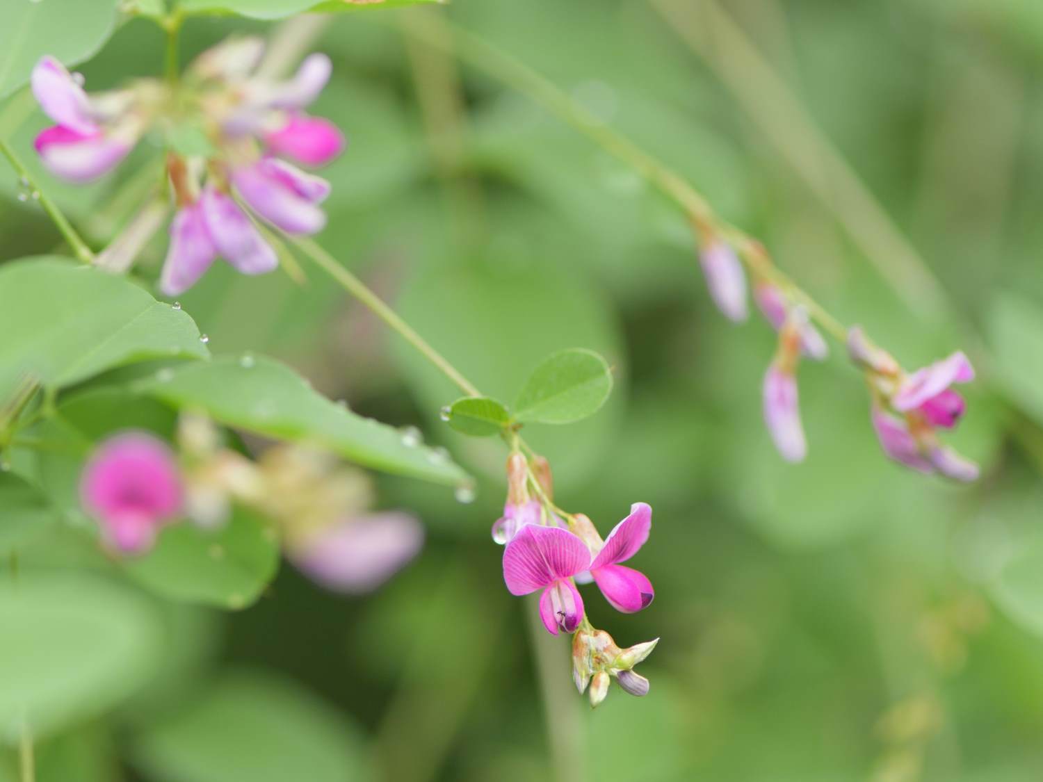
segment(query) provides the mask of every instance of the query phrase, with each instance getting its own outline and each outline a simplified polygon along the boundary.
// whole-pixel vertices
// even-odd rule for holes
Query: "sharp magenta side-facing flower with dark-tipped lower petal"
[[[615,526],[604,547],[590,563],[593,577],[605,600],[616,611],[632,614],[648,607],[655,597],[652,582],[645,573],[618,564],[637,554],[652,530],[652,508],[645,503],[630,506],[630,515]]]

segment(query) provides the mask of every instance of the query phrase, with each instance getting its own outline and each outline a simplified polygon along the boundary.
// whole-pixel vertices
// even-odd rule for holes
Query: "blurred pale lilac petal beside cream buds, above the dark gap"
[[[292,554],[317,583],[337,592],[368,592],[401,570],[423,545],[423,527],[409,513],[347,518]]]

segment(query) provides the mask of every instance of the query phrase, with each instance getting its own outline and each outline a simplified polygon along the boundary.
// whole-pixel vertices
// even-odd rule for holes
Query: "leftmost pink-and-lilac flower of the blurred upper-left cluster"
[[[83,88],[54,57],[43,57],[32,69],[32,94],[56,125],[43,130],[34,146],[51,173],[86,182],[107,173],[138,141],[141,127],[128,114],[102,125],[102,112],[92,106]]]

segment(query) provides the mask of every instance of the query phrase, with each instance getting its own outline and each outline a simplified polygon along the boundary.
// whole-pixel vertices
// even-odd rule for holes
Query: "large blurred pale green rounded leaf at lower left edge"
[[[86,575],[20,572],[0,589],[0,733],[100,714],[148,676],[162,627],[147,601]]]

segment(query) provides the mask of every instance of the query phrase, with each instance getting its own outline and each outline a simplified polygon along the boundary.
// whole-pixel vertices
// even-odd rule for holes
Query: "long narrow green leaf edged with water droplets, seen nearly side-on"
[[[467,480],[441,451],[416,445],[393,426],[330,401],[272,359],[184,364],[134,388],[178,408],[202,410],[229,426],[325,446],[364,467],[450,485]]]

